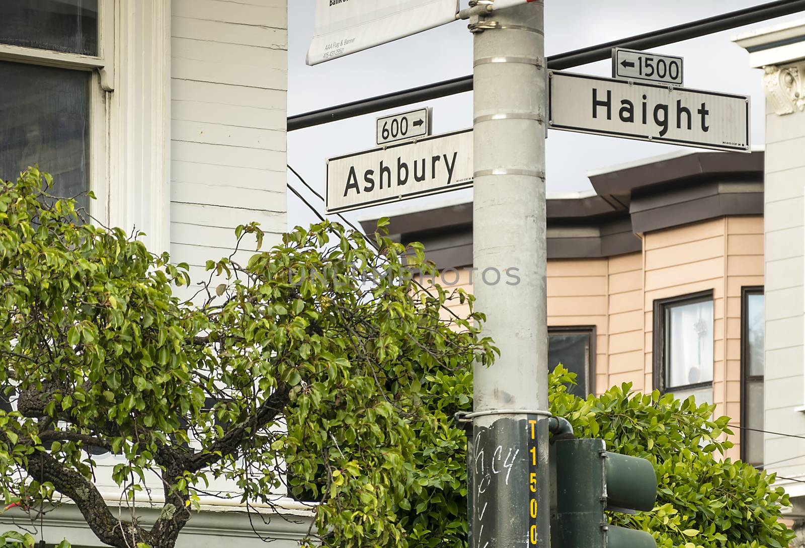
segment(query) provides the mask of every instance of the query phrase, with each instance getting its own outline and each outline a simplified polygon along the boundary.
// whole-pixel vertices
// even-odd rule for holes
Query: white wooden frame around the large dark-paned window
[[[89,89],[89,190],[95,193],[97,200],[90,200],[89,212],[103,223],[109,221],[108,93],[114,89],[114,20],[118,2],[98,0],[97,56],[0,43],[0,60],[92,72]],[[41,167],[47,171],[47,166]]]

